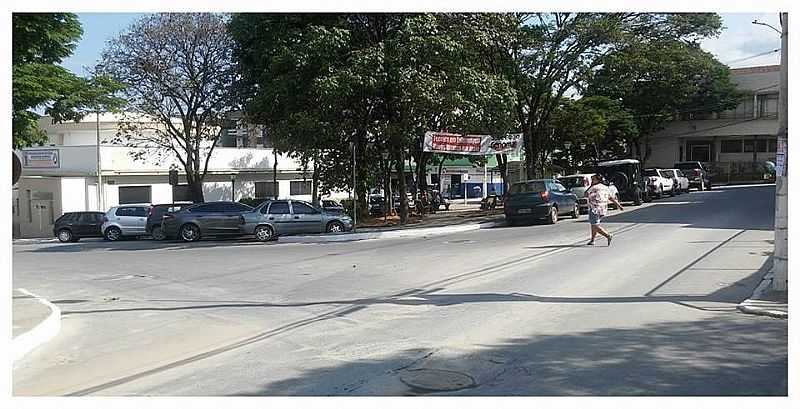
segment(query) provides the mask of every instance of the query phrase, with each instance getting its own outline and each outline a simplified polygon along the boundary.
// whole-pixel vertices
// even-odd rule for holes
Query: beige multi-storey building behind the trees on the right
[[[709,165],[717,183],[758,180],[775,161],[780,66],[736,68],[731,80],[745,96],[735,109],[683,113],[649,137],[647,166],[678,161]]]

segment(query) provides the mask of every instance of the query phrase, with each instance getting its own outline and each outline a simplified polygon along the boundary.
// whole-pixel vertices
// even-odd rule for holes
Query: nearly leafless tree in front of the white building
[[[176,157],[195,202],[220,126],[239,104],[232,49],[221,15],[154,14],[111,41],[98,66],[126,86],[136,116],[120,122],[117,140],[140,148],[136,159]]]

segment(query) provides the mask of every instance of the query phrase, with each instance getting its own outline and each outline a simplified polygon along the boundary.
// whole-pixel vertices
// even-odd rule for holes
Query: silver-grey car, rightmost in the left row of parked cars
[[[301,200],[264,202],[243,214],[243,218],[242,234],[254,235],[259,241],[290,234],[339,233],[353,229],[350,216],[327,212]]]

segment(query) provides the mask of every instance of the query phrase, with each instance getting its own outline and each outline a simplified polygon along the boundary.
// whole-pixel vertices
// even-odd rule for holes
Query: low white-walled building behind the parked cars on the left
[[[119,131],[119,117],[89,115],[82,121],[53,124],[43,117],[39,126],[47,133],[44,146],[17,152],[23,171],[14,186],[13,236],[52,235],[53,222],[64,212],[102,210],[120,204],[172,203],[189,200],[188,189],[169,184],[170,167],[186,179],[174,154],[158,154],[152,148],[131,148],[110,142]],[[100,175],[97,183],[97,128],[100,133]],[[252,131],[249,130],[249,131]],[[230,135],[246,134],[233,130]],[[286,156],[258,144],[239,139],[234,146],[220,143],[214,148],[203,183],[206,201],[239,200],[245,197],[272,197],[311,200],[311,172]],[[227,144],[230,145],[230,144]],[[252,146],[252,147],[248,147]],[[134,159],[133,153],[142,153]],[[277,186],[273,185],[273,165],[277,159]],[[346,193],[344,194],[346,197]]]

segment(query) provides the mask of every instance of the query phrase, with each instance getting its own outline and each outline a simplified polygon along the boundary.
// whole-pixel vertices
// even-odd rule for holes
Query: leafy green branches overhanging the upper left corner
[[[88,112],[114,109],[120,85],[105,76],[82,78],[58,64],[74,51],[83,31],[71,13],[12,15],[12,145],[41,144],[47,135],[38,127],[43,110],[54,122],[79,121]]]

